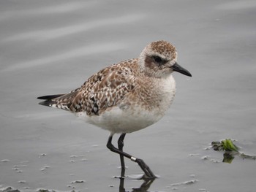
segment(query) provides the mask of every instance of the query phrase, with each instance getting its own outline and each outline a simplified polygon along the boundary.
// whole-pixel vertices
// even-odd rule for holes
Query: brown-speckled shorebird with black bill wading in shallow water
[[[173,72],[192,77],[177,63],[177,51],[170,42],[159,40],[148,44],[138,58],[106,66],[89,77],[79,88],[64,93],[39,96],[39,104],[74,113],[78,118],[110,131],[107,147],[124,158],[135,161],[146,178],[157,178],[141,158],[125,153],[126,134],[157,123],[168,110],[176,93]],[[118,147],[112,144],[120,134]]]

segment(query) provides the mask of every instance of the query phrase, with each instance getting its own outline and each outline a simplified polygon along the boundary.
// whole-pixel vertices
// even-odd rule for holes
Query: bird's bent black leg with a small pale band
[[[140,158],[135,158],[132,155],[129,155],[128,153],[125,153],[122,150],[119,150],[118,148],[116,148],[115,146],[113,146],[112,144],[112,138],[113,135],[110,135],[110,137],[108,137],[108,143],[107,143],[107,147],[108,149],[110,149],[111,151],[113,151],[114,153],[118,153],[119,155],[122,155],[126,158],[131,159],[132,161],[135,161],[136,163],[138,163],[138,165],[140,166],[140,168],[143,170],[143,172],[145,173],[145,177],[147,178],[157,178],[153,172],[151,172],[151,169],[145,164],[145,162],[140,159]]]

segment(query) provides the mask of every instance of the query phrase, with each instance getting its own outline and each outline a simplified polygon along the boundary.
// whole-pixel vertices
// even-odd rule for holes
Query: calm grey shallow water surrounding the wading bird
[[[147,190],[255,191],[256,161],[225,164],[222,153],[206,150],[232,138],[256,154],[255,7],[228,0],[0,1],[0,188],[119,191],[108,132],[36,98],[71,91],[165,39],[193,77],[174,74],[176,99],[165,118],[124,141],[127,153],[159,175]],[[142,173],[126,164],[127,175]],[[124,179],[127,191],[140,185]]]

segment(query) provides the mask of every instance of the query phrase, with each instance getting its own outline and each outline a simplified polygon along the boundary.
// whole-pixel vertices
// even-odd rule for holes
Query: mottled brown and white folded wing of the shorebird
[[[115,106],[132,91],[134,78],[131,69],[110,66],[91,76],[80,88],[52,99],[55,102],[52,107],[99,115],[99,112]]]

